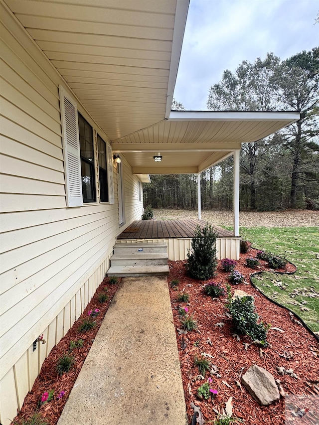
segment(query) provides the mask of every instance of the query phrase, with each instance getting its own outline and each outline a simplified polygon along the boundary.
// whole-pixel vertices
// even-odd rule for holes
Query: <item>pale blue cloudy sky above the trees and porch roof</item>
[[[319,46],[318,11],[318,0],[190,0],[174,98],[205,110],[225,69]]]

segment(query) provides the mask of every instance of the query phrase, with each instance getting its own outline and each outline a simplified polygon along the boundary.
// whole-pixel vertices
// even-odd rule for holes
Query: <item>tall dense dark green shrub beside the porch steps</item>
[[[208,223],[202,230],[197,225],[191,240],[192,253],[188,251],[185,263],[191,278],[207,281],[214,276],[217,268],[216,238],[217,234]]]

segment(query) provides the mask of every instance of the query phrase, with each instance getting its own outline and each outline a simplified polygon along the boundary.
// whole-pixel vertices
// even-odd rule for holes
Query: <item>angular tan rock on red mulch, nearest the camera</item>
[[[257,365],[248,369],[241,382],[261,406],[268,406],[279,400],[279,391],[273,375]]]

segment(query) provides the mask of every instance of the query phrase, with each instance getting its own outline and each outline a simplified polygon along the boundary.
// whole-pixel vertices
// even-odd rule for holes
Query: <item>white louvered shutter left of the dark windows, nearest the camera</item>
[[[76,102],[59,86],[66,205],[83,205],[78,110]]]

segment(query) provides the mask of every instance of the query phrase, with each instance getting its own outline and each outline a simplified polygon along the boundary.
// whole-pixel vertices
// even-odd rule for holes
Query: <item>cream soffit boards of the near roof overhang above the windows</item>
[[[188,0],[4,1],[110,140],[167,116]]]

